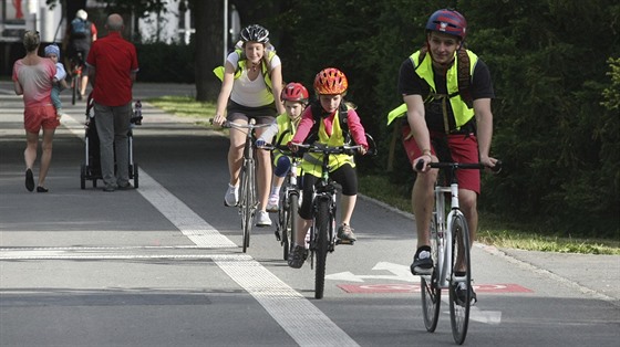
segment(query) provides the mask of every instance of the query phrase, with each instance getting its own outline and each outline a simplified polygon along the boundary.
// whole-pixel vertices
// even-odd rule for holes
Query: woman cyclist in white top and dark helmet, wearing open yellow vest
[[[267,29],[251,24],[241,30],[240,36],[241,48],[228,54],[224,71],[219,71],[221,90],[217,97],[214,124],[221,126],[226,120],[248,124],[250,118],[254,118],[256,124],[271,124],[277,115],[286,112],[279,97],[282,92],[280,57],[269,43]],[[257,129],[257,136],[262,132],[264,129]],[[239,202],[239,174],[244,161],[245,141],[245,132],[230,129],[230,180],[224,196],[225,206],[237,206]],[[256,213],[256,225],[269,227],[271,219],[266,209],[271,187],[271,153],[258,150],[257,158],[256,177],[260,207]]]

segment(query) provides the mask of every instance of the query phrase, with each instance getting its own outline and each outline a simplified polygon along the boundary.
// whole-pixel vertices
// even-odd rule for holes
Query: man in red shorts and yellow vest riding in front
[[[458,50],[464,49],[467,22],[457,11],[442,9],[434,12],[426,23],[426,45],[413,53],[401,65],[399,92],[406,104],[406,124],[403,145],[417,177],[413,186],[412,202],[417,230],[417,251],[411,271],[425,274],[432,271],[433,260],[428,246],[430,222],[433,211],[433,187],[437,170],[418,161],[482,162],[494,167],[489,157],[493,135],[490,99],[495,97],[487,65],[476,54],[466,50],[469,60],[468,94],[473,103],[461,95],[457,69]],[[426,53],[422,52],[425,51]],[[461,92],[461,93],[459,93]],[[391,120],[393,117],[391,115]],[[447,155],[444,156],[444,154]],[[475,240],[478,214],[477,196],[480,177],[477,170],[458,170],[459,204]],[[456,288],[459,295],[459,288]],[[463,290],[463,293],[464,290]],[[475,293],[472,293],[475,301]]]

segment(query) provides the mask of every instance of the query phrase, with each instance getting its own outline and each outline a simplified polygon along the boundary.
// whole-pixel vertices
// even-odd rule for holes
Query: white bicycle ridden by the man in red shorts
[[[422,169],[424,162],[416,164]],[[433,269],[421,275],[422,312],[424,325],[430,333],[435,332],[440,317],[442,290],[448,291],[450,322],[454,341],[462,345],[467,336],[469,308],[472,306],[472,262],[469,253],[469,229],[458,204],[458,169],[482,170],[483,164],[430,162],[428,167],[443,170],[450,186],[435,183],[435,206],[431,220],[431,256]],[[499,172],[502,162],[493,170]],[[440,181],[440,180],[437,180]],[[446,199],[450,197],[450,206]],[[457,297],[461,287],[465,297]]]

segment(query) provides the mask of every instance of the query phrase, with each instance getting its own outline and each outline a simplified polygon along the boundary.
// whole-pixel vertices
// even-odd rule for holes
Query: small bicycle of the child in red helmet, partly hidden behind
[[[285,132],[285,134],[287,132]],[[297,235],[297,211],[299,210],[301,194],[301,187],[298,183],[298,174],[299,167],[301,166],[301,158],[299,155],[293,154],[287,146],[280,144],[285,134],[280,135],[280,140],[278,140],[276,145],[267,144],[261,148],[267,150],[279,149],[282,155],[291,159],[291,167],[285,178],[282,190],[280,190],[280,208],[278,209],[278,221],[275,232],[276,240],[278,240],[282,246],[283,259],[288,260],[289,252],[294,244],[294,236]]]

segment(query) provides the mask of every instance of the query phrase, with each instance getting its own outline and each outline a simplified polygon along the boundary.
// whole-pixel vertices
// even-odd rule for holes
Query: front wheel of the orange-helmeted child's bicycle
[[[328,256],[328,236],[329,236],[329,201],[319,199],[317,207],[317,249],[314,250],[317,266],[314,269],[314,298],[322,298],[326,288],[326,262]]]

